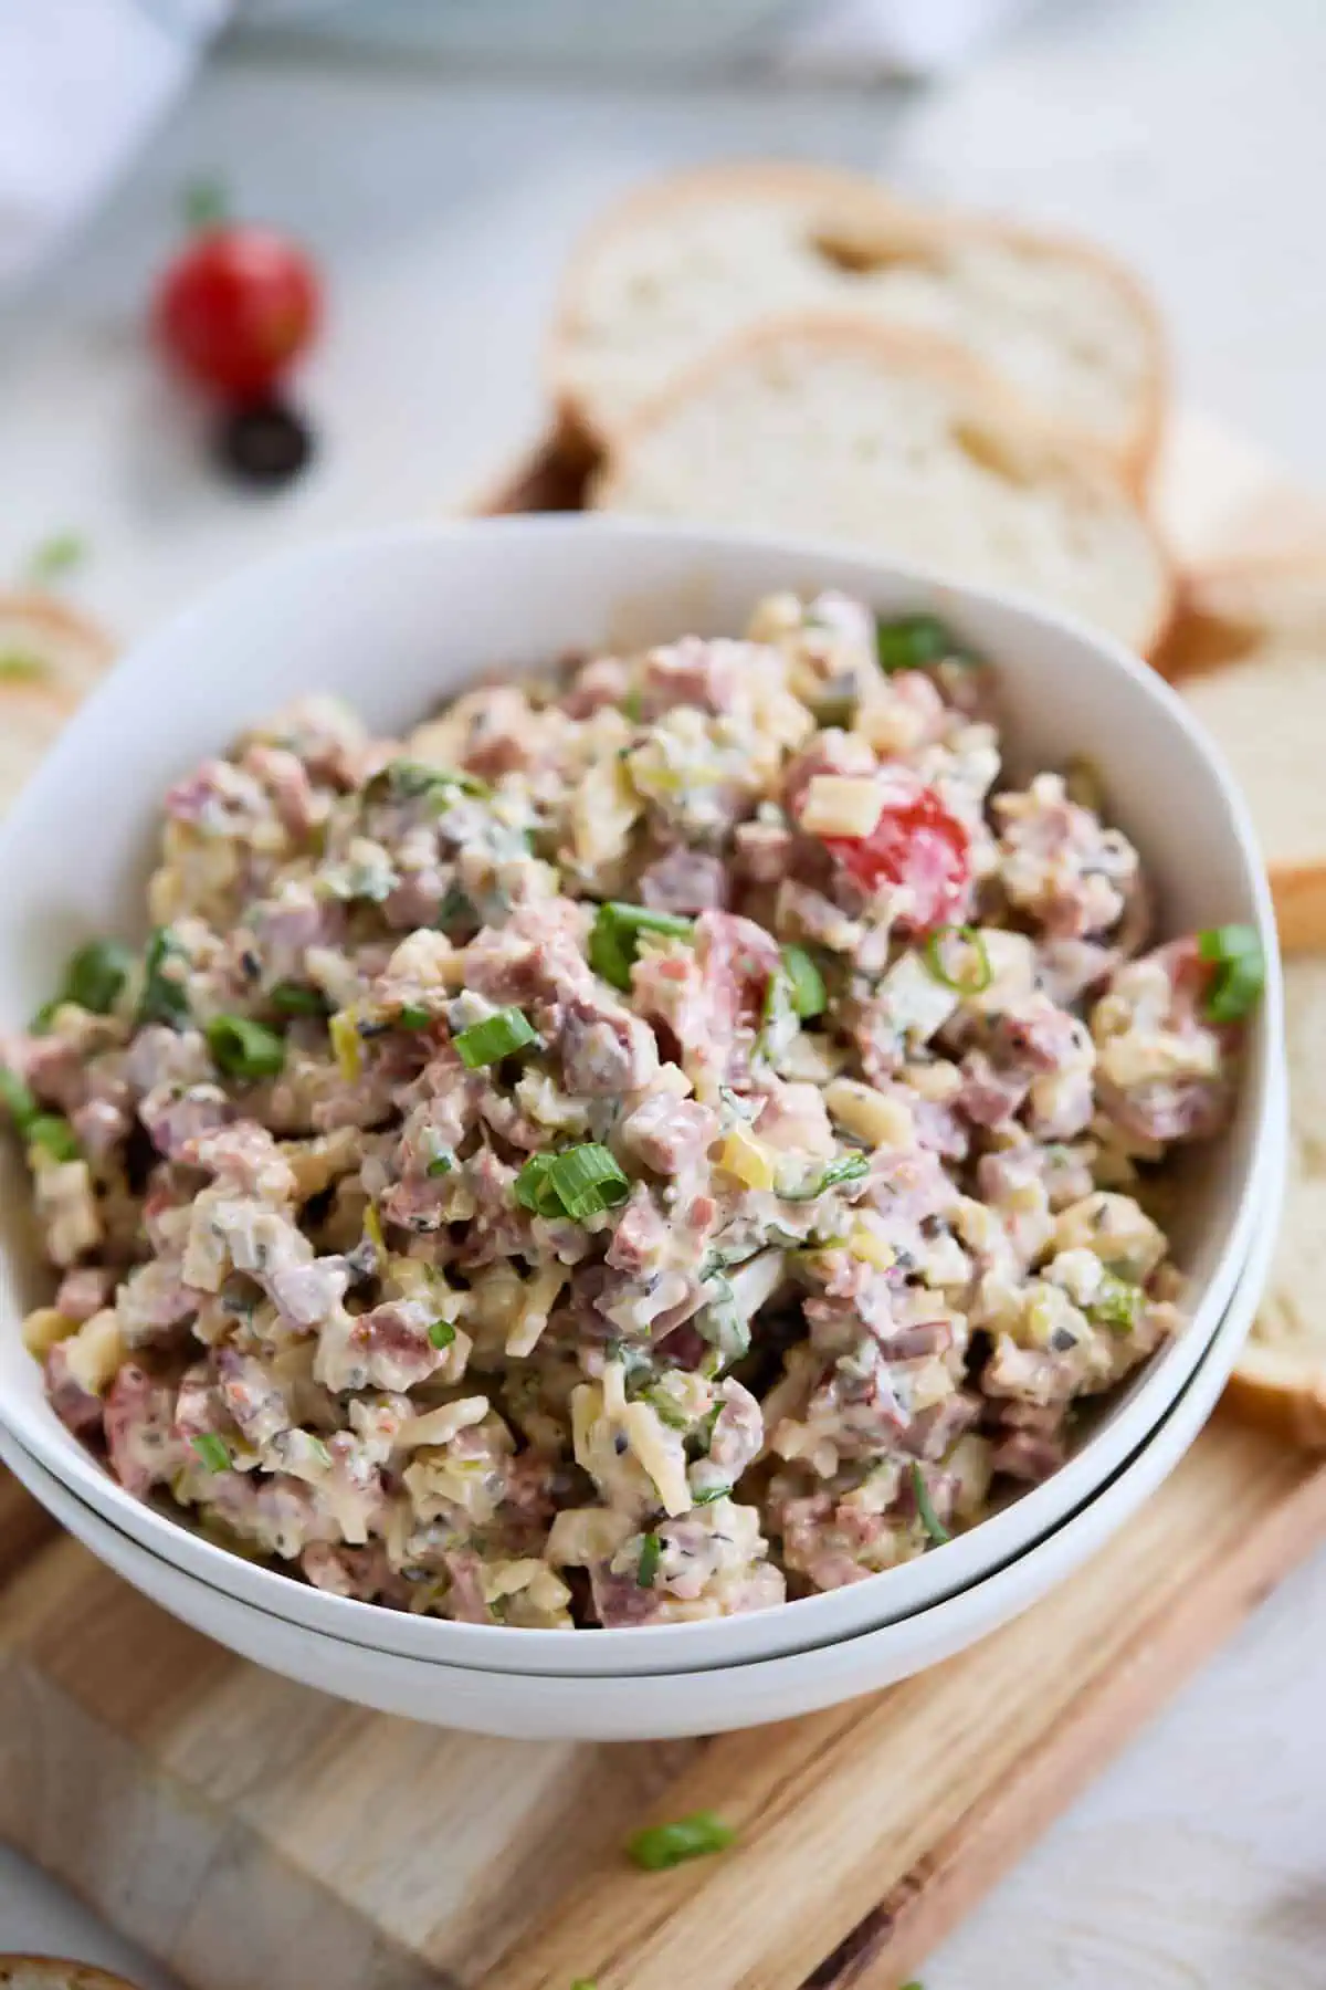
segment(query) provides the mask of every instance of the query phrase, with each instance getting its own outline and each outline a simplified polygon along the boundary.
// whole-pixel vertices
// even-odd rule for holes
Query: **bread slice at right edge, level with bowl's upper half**
[[[1326,545],[1195,575],[1161,663],[1248,800],[1280,943],[1326,947]]]

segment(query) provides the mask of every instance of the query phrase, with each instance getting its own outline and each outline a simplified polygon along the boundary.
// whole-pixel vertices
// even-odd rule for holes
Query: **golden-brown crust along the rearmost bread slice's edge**
[[[561,426],[580,440],[582,448],[604,450],[618,440],[618,430],[608,424],[600,410],[594,410],[579,388],[567,362],[567,352],[575,336],[580,314],[580,287],[584,271],[622,233],[656,221],[672,209],[686,209],[714,199],[736,195],[749,197],[811,197],[823,199],[827,219],[837,225],[863,225],[875,221],[893,233],[909,231],[918,239],[942,243],[944,239],[996,239],[1012,249],[1054,255],[1064,261],[1091,267],[1111,281],[1115,291],[1127,297],[1137,322],[1145,326],[1149,366],[1143,402],[1127,442],[1113,450],[1099,436],[1085,440],[1101,454],[1107,454],[1119,474],[1133,490],[1141,490],[1149,478],[1161,440],[1165,412],[1169,406],[1169,358],[1161,318],[1137,277],[1109,253],[1095,249],[1074,237],[1030,229],[1022,223],[998,215],[978,215],[970,211],[950,211],[922,207],[889,193],[867,175],[851,173],[829,165],[801,161],[734,161],[694,167],[654,181],[628,193],[606,215],[602,215],[575,249],[565,271],[559,300],[555,306],[551,334],[545,346],[545,378],[557,408]],[[1012,388],[1006,390],[1012,396]],[[1022,402],[1022,396],[1018,396]],[[1034,408],[1026,412],[1034,414]]]

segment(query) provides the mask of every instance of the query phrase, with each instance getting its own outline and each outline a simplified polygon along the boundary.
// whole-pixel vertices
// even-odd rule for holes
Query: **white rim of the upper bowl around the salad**
[[[62,778],[62,760],[68,744],[95,728],[101,706],[113,698],[123,698],[127,695],[125,687],[131,687],[135,679],[141,677],[143,681],[151,681],[159,669],[157,659],[161,655],[171,655],[181,647],[189,647],[199,629],[223,623],[227,615],[237,613],[254,593],[260,595],[274,583],[308,583],[328,559],[340,559],[346,555],[364,559],[374,559],[378,555],[390,557],[402,547],[463,547],[465,543],[473,543],[477,537],[497,541],[505,539],[515,547],[529,539],[557,541],[559,537],[590,545],[664,543],[678,557],[700,557],[708,561],[722,559],[724,555],[755,553],[777,557],[789,567],[815,567],[819,563],[839,571],[851,569],[855,585],[859,585],[867,595],[877,597],[893,591],[895,595],[909,595],[912,601],[926,603],[948,615],[966,613],[980,619],[994,613],[996,619],[1036,625],[1044,637],[1083,653],[1079,659],[1083,667],[1085,657],[1089,657],[1091,669],[1103,669],[1115,677],[1123,677],[1129,685],[1129,696],[1135,695],[1141,706],[1149,706],[1153,716],[1161,716],[1163,722],[1183,736],[1193,764],[1201,768],[1203,778],[1211,784],[1223,806],[1233,838],[1231,848],[1237,850],[1248,899],[1256,911],[1266,951],[1266,989],[1256,1029],[1258,1051],[1256,1057],[1248,1059],[1243,1077],[1243,1083],[1254,1091],[1256,1130],[1252,1136],[1246,1174],[1239,1192],[1237,1214],[1229,1226],[1221,1256],[1211,1270],[1201,1299],[1193,1307],[1183,1331],[1159,1353],[1159,1357],[1153,1357],[1143,1369],[1137,1371],[1129,1401],[1101,1431],[1091,1433],[1083,1441],[1081,1449],[1068,1461],[1066,1467],[1060,1469],[1060,1473],[1044,1485],[1032,1487],[1008,1508],[982,1520],[966,1534],[956,1536],[950,1544],[928,1550],[926,1556],[916,1562],[883,1570],[881,1574],[865,1578],[861,1584],[853,1584],[853,1592],[857,1596],[871,1592],[877,1598],[885,1598],[887,1594],[901,1598],[905,1594],[922,1592],[922,1604],[938,1602],[944,1594],[960,1594],[970,1580],[976,1580],[982,1568],[1006,1560],[1008,1554],[1016,1552],[1018,1540],[1024,1544],[1028,1538],[1038,1538],[1038,1516],[1046,1512],[1056,1496],[1060,1500],[1066,1496],[1068,1485],[1077,1487],[1079,1481],[1083,1487],[1087,1481],[1099,1485],[1113,1469],[1117,1469],[1119,1459],[1129,1455],[1137,1441],[1135,1433],[1143,1427],[1151,1429],[1157,1425],[1177,1393],[1187,1385],[1187,1379],[1197,1363],[1203,1359],[1211,1337],[1219,1329],[1223,1309],[1229,1303],[1241,1264],[1246,1258],[1248,1236],[1256,1218],[1254,1184],[1264,1158],[1272,1114],[1268,1075],[1280,1061],[1282,1039],[1280,965],[1274,917],[1246,806],[1201,724],[1157,673],[1105,633],[1087,629],[1068,615],[1046,609],[1042,603],[1034,603],[1006,591],[962,585],[946,577],[926,573],[920,567],[875,559],[869,553],[859,553],[851,547],[815,539],[767,535],[757,531],[712,531],[708,527],[700,529],[682,523],[656,525],[638,519],[604,519],[582,513],[535,513],[499,519],[414,521],[408,525],[378,527],[374,531],[346,531],[320,537],[302,547],[272,553],[243,567],[219,587],[209,589],[179,615],[167,619],[145,641],[131,645],[129,653],[115,667],[111,677],[74,716],[72,724],[66,728],[66,736],[56,744],[54,752],[46,758],[16,802],[10,818],[0,828],[0,848],[4,848],[4,840],[12,828],[24,822],[28,810],[36,812],[42,808],[44,790]],[[16,1321],[0,1319],[0,1333],[14,1329]],[[720,1626],[749,1626],[757,1620],[765,1620],[765,1626],[795,1624],[795,1632],[773,1630],[773,1638],[779,1644],[787,1638],[797,1638],[799,1644],[795,1648],[799,1650],[813,1644],[819,1628],[817,1620],[837,1614],[833,1600],[839,1592],[821,1592],[771,1606],[767,1612],[757,1612],[751,1618],[720,1620],[720,1624],[700,1622],[596,1630],[592,1638],[584,1640],[569,1638],[565,1632],[553,1630],[517,1632],[511,1626],[412,1618],[404,1612],[386,1610],[380,1604],[332,1596],[300,1582],[294,1576],[245,1562],[243,1558],[231,1554],[231,1550],[205,1540],[181,1520],[131,1498],[131,1494],[127,1494],[123,1487],[119,1487],[99,1465],[99,1461],[95,1461],[91,1453],[83,1451],[78,1439],[70,1433],[56,1431],[54,1427],[48,1431],[44,1425],[26,1429],[26,1417],[22,1411],[16,1415],[14,1407],[4,1401],[0,1401],[0,1419],[24,1445],[24,1449],[32,1451],[56,1479],[70,1487],[70,1491],[82,1489],[82,1496],[87,1504],[101,1510],[107,1518],[119,1516],[125,1532],[143,1540],[143,1544],[149,1540],[161,1542],[163,1558],[171,1560],[177,1568],[201,1572],[215,1566],[219,1574],[223,1570],[231,1570],[233,1580],[229,1584],[219,1580],[213,1586],[231,1592],[252,1590],[254,1600],[258,1594],[270,1596],[270,1604],[264,1602],[262,1606],[272,1608],[272,1614],[282,1616],[286,1622],[326,1628],[328,1634],[346,1636],[350,1642],[368,1650],[382,1650],[382,1640],[386,1636],[392,1640],[400,1656],[419,1654],[433,1664],[441,1662],[441,1658],[431,1658],[425,1648],[431,1644],[441,1652],[445,1646],[453,1644],[457,1650],[463,1650],[465,1646],[473,1648],[475,1662],[479,1662],[479,1658],[487,1658],[489,1670],[507,1670],[515,1674],[531,1670],[537,1672],[537,1662],[547,1654],[549,1658],[557,1656],[561,1674],[602,1676],[604,1670],[612,1670],[612,1662],[618,1654],[622,1664],[630,1662],[634,1670],[642,1668],[646,1660],[646,1640],[650,1650],[654,1646],[660,1646],[662,1650],[676,1648],[678,1658],[682,1658],[688,1644],[694,1648],[696,1642],[712,1642],[716,1636],[728,1636],[730,1640],[740,1642],[736,1632],[726,1632]],[[1066,1475],[1072,1477],[1066,1481]],[[1077,1498],[1081,1494],[1074,1492],[1070,1496]],[[911,1582],[905,1580],[909,1576]],[[211,1578],[205,1576],[203,1580]],[[286,1608],[280,1606],[282,1602]],[[899,1604],[899,1608],[907,1612],[909,1606]],[[914,1604],[911,1608],[914,1608]],[[362,1630],[362,1636],[356,1636],[358,1630]],[[700,1634],[708,1636],[700,1638]],[[630,1652],[634,1652],[634,1660],[626,1658]],[[497,1664],[499,1654],[505,1660],[501,1666]],[[706,1666],[704,1660],[696,1660],[694,1664],[696,1670],[704,1670]]]

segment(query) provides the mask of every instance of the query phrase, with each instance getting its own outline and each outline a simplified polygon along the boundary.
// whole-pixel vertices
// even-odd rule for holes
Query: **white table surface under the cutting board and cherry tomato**
[[[648,171],[740,151],[879,167],[1113,243],[1167,310],[1185,398],[1322,482],[1324,82],[1320,0],[1060,0],[903,101],[221,60],[0,312],[0,573],[83,531],[80,593],[133,635],[260,551],[453,505],[539,426],[539,326],[577,227]],[[306,386],[322,452],[280,498],[199,468],[137,330],[179,189],[211,169],[328,267]],[[1322,1990],[1324,1652],[1318,1560],[932,1958],[926,1990]],[[167,1984],[4,1851],[0,1948]]]

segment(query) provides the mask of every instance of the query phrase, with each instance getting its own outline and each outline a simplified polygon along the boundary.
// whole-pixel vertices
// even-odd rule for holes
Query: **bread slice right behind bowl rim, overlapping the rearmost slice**
[[[1173,587],[1115,474],[962,352],[789,318],[702,362],[590,488],[608,511],[857,543],[1012,587],[1153,649]]]

